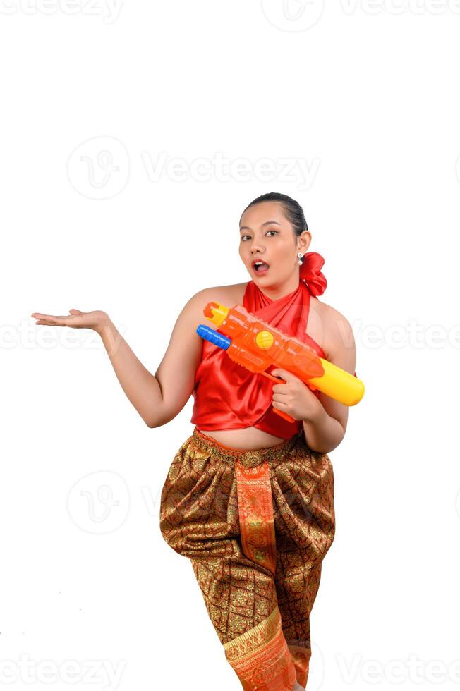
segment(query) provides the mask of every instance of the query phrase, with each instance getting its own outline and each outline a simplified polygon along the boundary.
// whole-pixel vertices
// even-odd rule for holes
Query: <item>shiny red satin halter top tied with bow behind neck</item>
[[[327,286],[326,278],[320,271],[322,264],[324,259],[317,252],[305,254],[298,287],[279,300],[271,300],[253,281],[249,281],[243,307],[284,334],[308,343],[320,357],[326,359],[320,345],[306,333],[311,297],[316,298],[324,293]],[[276,368],[269,367],[267,372],[272,369]],[[195,374],[195,400],[190,422],[203,432],[257,427],[282,439],[290,439],[301,432],[303,424],[301,420],[288,422],[273,412],[273,386],[273,381],[238,365],[225,350],[204,340],[202,360]],[[319,395],[318,391],[313,393]]]

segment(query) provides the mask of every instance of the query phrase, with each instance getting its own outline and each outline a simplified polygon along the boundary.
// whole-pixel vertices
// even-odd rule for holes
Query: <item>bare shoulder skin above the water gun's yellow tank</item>
[[[327,305],[327,302],[315,300],[314,303],[322,324],[323,350],[328,354],[327,359],[353,374],[356,366],[356,344],[349,320],[335,307]]]

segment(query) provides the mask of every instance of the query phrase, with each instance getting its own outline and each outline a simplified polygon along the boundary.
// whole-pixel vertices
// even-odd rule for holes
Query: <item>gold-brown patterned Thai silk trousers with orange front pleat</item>
[[[237,451],[197,427],[162,489],[160,530],[190,559],[226,660],[246,691],[303,687],[310,612],[334,539],[334,472],[303,432]]]

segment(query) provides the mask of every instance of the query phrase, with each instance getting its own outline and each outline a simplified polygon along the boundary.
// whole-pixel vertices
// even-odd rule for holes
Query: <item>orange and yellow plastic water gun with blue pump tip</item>
[[[310,345],[284,334],[242,305],[225,307],[220,302],[208,302],[203,314],[219,330],[200,324],[197,334],[226,350],[231,360],[250,372],[258,372],[277,384],[285,384],[281,377],[265,372],[267,367],[274,365],[295,374],[309,389],[322,391],[344,405],[356,405],[363,398],[361,379],[324,360]],[[273,410],[285,420],[294,422],[286,412],[278,408]]]

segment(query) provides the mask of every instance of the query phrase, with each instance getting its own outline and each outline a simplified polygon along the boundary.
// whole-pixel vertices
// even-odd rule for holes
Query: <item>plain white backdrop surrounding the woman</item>
[[[96,334],[30,314],[106,310],[155,372],[191,295],[249,280],[238,220],[270,191],[366,386],[308,689],[458,687],[460,2],[0,6],[5,688],[241,687],[159,532],[192,399],[148,429]]]

